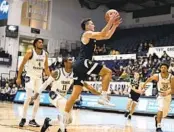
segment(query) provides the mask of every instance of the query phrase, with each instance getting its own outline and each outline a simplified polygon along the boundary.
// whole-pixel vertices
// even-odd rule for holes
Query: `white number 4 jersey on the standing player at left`
[[[25,70],[28,76],[42,77],[44,64],[46,60],[46,52],[42,50],[42,54],[38,55],[35,49],[32,49],[32,58],[28,60]]]

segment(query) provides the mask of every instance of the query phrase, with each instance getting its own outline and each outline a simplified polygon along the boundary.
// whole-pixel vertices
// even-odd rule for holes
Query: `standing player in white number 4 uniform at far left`
[[[45,73],[47,76],[50,75],[50,71],[48,67],[48,56],[47,56],[47,53],[43,50],[43,42],[44,40],[41,38],[36,38],[34,40],[33,42],[34,48],[27,51],[19,67],[19,72],[18,72],[18,76],[16,80],[16,83],[18,85],[21,84],[21,74],[26,64],[26,67],[25,67],[26,100],[24,102],[22,119],[19,123],[20,127],[23,127],[26,123],[27,109],[31,101],[31,97],[33,96],[33,93],[36,93],[38,91],[38,88],[42,84],[43,69],[45,70]],[[32,120],[29,121],[30,126],[39,127],[39,124],[36,123],[35,121],[36,113],[39,108],[39,103],[40,103],[40,97],[38,97],[34,101]]]

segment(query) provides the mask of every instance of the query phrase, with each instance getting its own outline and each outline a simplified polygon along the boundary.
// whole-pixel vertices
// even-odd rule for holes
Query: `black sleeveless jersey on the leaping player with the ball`
[[[96,39],[90,39],[88,44],[83,44],[81,42],[79,58],[92,60],[95,44]]]

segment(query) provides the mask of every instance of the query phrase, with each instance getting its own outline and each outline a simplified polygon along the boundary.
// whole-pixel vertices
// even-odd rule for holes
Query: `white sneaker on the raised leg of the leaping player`
[[[98,99],[98,103],[104,106],[115,107],[115,104],[109,102],[107,95],[101,95],[100,98]]]

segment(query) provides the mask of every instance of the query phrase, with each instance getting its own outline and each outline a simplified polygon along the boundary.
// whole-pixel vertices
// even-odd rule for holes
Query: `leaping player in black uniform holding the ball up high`
[[[98,103],[102,105],[114,106],[113,104],[109,103],[107,98],[107,90],[112,77],[112,71],[105,66],[94,63],[92,61],[92,56],[96,40],[109,39],[121,22],[119,17],[120,16],[117,16],[116,13],[111,13],[107,25],[102,29],[101,32],[94,31],[95,26],[91,19],[84,19],[82,21],[81,27],[84,30],[84,33],[81,36],[81,49],[78,59],[73,65],[74,86],[73,92],[65,107],[65,124],[66,120],[68,120],[68,113],[82,92],[83,84],[81,83],[81,80],[86,80],[86,78],[91,74],[97,74],[102,77],[102,94],[98,100]]]

